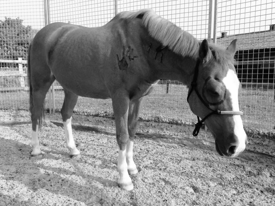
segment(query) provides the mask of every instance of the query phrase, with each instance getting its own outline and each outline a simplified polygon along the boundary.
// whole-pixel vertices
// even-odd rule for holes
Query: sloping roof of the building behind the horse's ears
[[[217,44],[226,48],[234,39],[238,39],[238,50],[275,48],[275,30],[218,37]]]

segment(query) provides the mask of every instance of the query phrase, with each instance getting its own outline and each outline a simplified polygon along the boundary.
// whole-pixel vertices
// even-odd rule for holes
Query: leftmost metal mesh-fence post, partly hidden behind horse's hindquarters
[[[44,0],[44,18],[45,18],[45,26],[50,24],[50,7],[49,0]],[[49,113],[55,113],[55,99],[54,99],[54,83],[49,88]]]

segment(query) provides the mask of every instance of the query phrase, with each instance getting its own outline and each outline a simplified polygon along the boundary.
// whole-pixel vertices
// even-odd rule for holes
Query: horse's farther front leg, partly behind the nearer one
[[[129,103],[129,111],[128,111],[128,134],[129,141],[126,148],[126,161],[128,165],[128,173],[130,175],[134,175],[138,173],[136,168],[136,164],[133,160],[133,145],[134,145],[134,137],[136,134],[136,127],[139,117],[139,110],[142,106],[142,99],[132,100]]]

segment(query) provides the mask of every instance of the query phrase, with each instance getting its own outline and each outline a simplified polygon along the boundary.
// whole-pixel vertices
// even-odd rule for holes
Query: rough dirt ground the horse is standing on
[[[116,181],[113,119],[73,116],[78,157],[69,157],[60,114],[45,115],[42,157],[31,157],[29,112],[0,112],[0,205],[275,205],[275,141],[249,138],[239,157],[215,151],[193,126],[139,122],[134,189]]]

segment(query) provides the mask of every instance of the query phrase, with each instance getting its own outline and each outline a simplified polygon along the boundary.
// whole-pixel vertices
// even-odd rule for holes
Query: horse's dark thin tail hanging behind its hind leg
[[[29,44],[29,49],[28,49],[28,84],[29,84],[29,111],[32,112],[32,107],[33,107],[33,87],[32,87],[32,82],[31,82],[31,65],[30,65],[30,57],[31,57],[31,43]],[[44,103],[41,108],[41,115],[39,116],[39,128],[41,128],[41,123],[42,123],[42,115],[45,120],[45,111],[44,111]],[[35,129],[35,128],[33,128]]]

